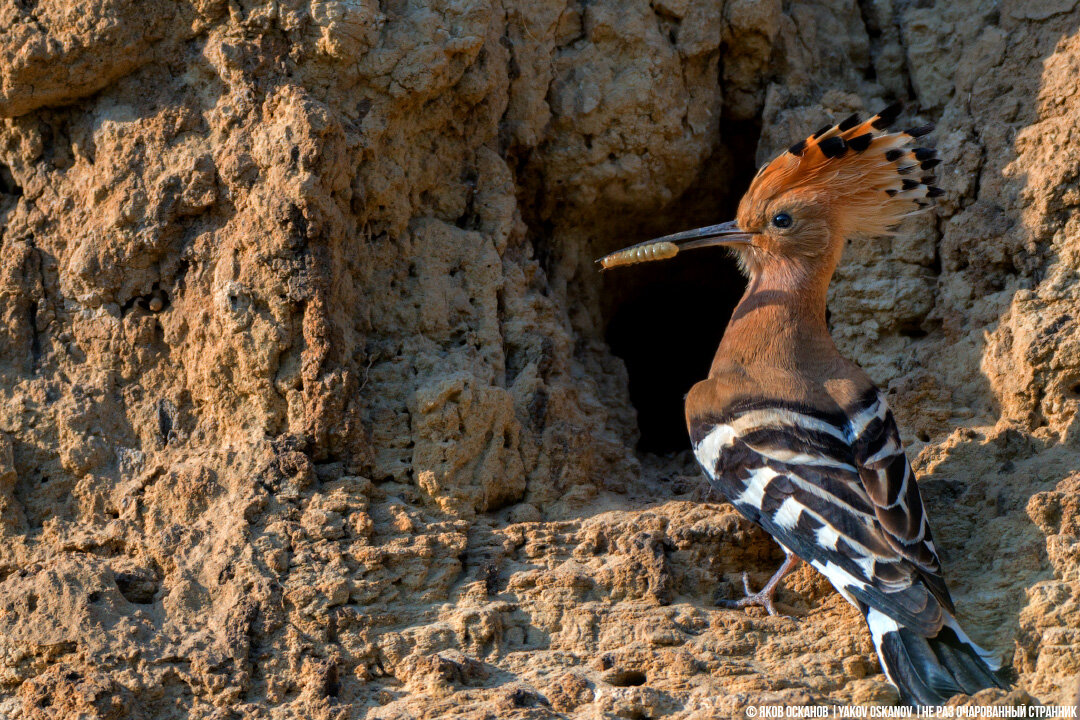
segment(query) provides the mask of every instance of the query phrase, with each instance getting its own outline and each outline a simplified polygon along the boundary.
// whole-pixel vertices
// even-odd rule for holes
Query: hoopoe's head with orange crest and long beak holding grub
[[[733,248],[748,275],[770,271],[827,282],[843,241],[890,234],[942,194],[933,150],[912,147],[932,126],[886,128],[892,105],[869,120],[851,116],[796,142],[762,166],[739,203],[737,219],[650,240],[599,260],[607,268],[674,257],[684,249]]]

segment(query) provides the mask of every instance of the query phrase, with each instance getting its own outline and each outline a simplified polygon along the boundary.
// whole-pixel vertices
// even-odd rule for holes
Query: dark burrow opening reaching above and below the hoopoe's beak
[[[734,218],[756,172],[756,122],[723,122],[725,142],[678,201],[623,236],[618,249],[690,228]],[[603,273],[605,339],[626,364],[630,399],[637,410],[639,452],[689,449],[683,403],[708,375],[716,347],[746,287],[734,257],[715,247],[672,260]]]

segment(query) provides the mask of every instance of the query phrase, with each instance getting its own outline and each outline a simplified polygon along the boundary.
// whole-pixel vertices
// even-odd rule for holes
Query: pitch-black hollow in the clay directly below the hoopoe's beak
[[[710,248],[605,275],[605,283],[619,284],[607,342],[630,375],[630,400],[642,433],[638,450],[688,449],[684,397],[708,375],[745,287],[734,258]]]

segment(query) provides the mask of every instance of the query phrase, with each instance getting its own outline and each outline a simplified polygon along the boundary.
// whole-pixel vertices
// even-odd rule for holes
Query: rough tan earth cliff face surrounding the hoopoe
[[[781,557],[679,439],[730,260],[592,260],[896,98],[947,194],[834,336],[1015,669],[976,699],[1071,702],[1076,5],[0,1],[0,715],[893,702],[812,570],[713,604]]]

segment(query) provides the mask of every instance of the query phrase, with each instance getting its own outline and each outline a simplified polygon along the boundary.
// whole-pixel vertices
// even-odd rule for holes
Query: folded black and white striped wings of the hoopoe
[[[849,412],[741,403],[692,419],[691,440],[713,485],[850,602],[937,631],[951,602],[895,422],[876,392]]]

